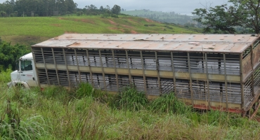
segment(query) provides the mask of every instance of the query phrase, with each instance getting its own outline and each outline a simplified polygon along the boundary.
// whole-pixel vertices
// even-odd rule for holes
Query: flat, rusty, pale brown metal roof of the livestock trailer
[[[63,34],[32,46],[240,53],[258,38],[250,34]]]

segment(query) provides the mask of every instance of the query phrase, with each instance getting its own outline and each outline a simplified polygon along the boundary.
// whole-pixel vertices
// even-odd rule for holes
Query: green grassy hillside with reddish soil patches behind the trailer
[[[195,30],[164,25],[145,18],[119,16],[25,17],[1,18],[0,36],[12,44],[32,45],[64,33],[93,34],[191,34]]]

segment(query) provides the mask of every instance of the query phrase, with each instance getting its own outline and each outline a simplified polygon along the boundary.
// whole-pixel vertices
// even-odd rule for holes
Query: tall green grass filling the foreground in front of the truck
[[[2,71],[0,78],[10,72]],[[233,113],[193,111],[174,93],[148,101],[130,87],[109,96],[88,83],[43,91],[5,85],[0,83],[2,139],[260,139],[257,121]]]

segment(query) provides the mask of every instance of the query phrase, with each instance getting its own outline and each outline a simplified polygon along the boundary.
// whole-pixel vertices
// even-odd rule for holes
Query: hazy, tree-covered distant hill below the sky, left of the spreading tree
[[[126,15],[138,16],[142,18],[149,18],[150,20],[155,20],[158,22],[174,23],[176,25],[195,24],[193,18],[196,18],[195,16],[180,15],[174,12],[166,13],[166,12],[157,12],[157,11],[146,10],[146,9],[126,10],[126,11],[121,11],[121,13],[124,13]]]

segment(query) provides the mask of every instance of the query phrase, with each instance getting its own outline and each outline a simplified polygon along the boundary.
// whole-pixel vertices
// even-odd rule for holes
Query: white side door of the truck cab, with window
[[[25,81],[30,87],[37,86],[32,60],[20,60],[20,80]]]

